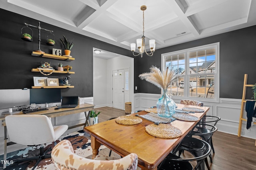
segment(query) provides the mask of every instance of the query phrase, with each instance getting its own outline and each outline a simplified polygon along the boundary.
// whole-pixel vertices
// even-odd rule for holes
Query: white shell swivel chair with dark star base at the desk
[[[32,170],[44,158],[51,158],[45,155],[44,143],[56,141],[68,129],[68,125],[52,126],[50,118],[46,115],[8,115],[5,118],[7,131],[11,142],[22,145],[41,145],[40,155],[32,158],[25,158],[16,161],[38,160]]]

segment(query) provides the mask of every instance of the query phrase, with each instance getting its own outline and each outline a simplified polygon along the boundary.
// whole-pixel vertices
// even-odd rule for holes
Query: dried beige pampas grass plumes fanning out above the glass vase
[[[146,80],[157,86],[158,88],[167,88],[171,85],[171,82],[175,80],[176,74],[173,70],[169,70],[169,67],[166,70],[163,70],[163,73],[156,66],[150,67],[150,72],[145,72],[139,75],[142,80]]]

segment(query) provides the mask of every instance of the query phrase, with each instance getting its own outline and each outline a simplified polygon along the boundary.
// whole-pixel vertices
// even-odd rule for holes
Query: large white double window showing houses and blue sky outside
[[[178,78],[168,88],[168,94],[174,99],[185,97],[217,101],[218,60],[219,43],[162,54],[162,68],[169,67],[178,74]],[[209,90],[214,95],[208,95]]]

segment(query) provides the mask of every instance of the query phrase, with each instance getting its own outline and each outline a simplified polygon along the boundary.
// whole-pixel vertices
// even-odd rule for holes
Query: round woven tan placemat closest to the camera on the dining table
[[[177,127],[162,123],[159,125],[150,124],[146,126],[146,132],[151,136],[164,139],[173,139],[182,135],[182,131]]]

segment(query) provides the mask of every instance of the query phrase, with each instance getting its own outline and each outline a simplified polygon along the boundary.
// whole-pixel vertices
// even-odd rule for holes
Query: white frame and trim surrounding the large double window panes
[[[201,49],[205,48],[210,48],[210,47],[215,47],[216,48],[216,56],[215,56],[215,71],[212,72],[215,74],[214,78],[214,98],[198,98],[198,97],[190,97],[189,96],[189,77],[193,74],[188,74],[189,72],[189,56],[188,53],[191,51],[199,51]],[[180,53],[185,53],[185,74],[184,76],[184,96],[172,96],[172,99],[174,100],[182,100],[182,99],[187,99],[187,100],[200,100],[200,101],[205,101],[205,102],[219,102],[219,89],[220,89],[220,64],[219,64],[219,59],[220,59],[220,42],[218,43],[212,43],[212,44],[207,44],[207,45],[202,45],[198,47],[192,47],[189,49],[183,49],[179,51],[173,51],[173,52],[168,52],[168,53],[163,53],[161,54],[161,66],[162,66],[162,71],[164,68],[166,68],[166,61],[165,61],[165,56],[166,55],[177,55]],[[207,75],[207,73],[201,73],[201,75]],[[212,81],[212,80],[211,80]],[[161,90],[162,93],[162,90]]]

